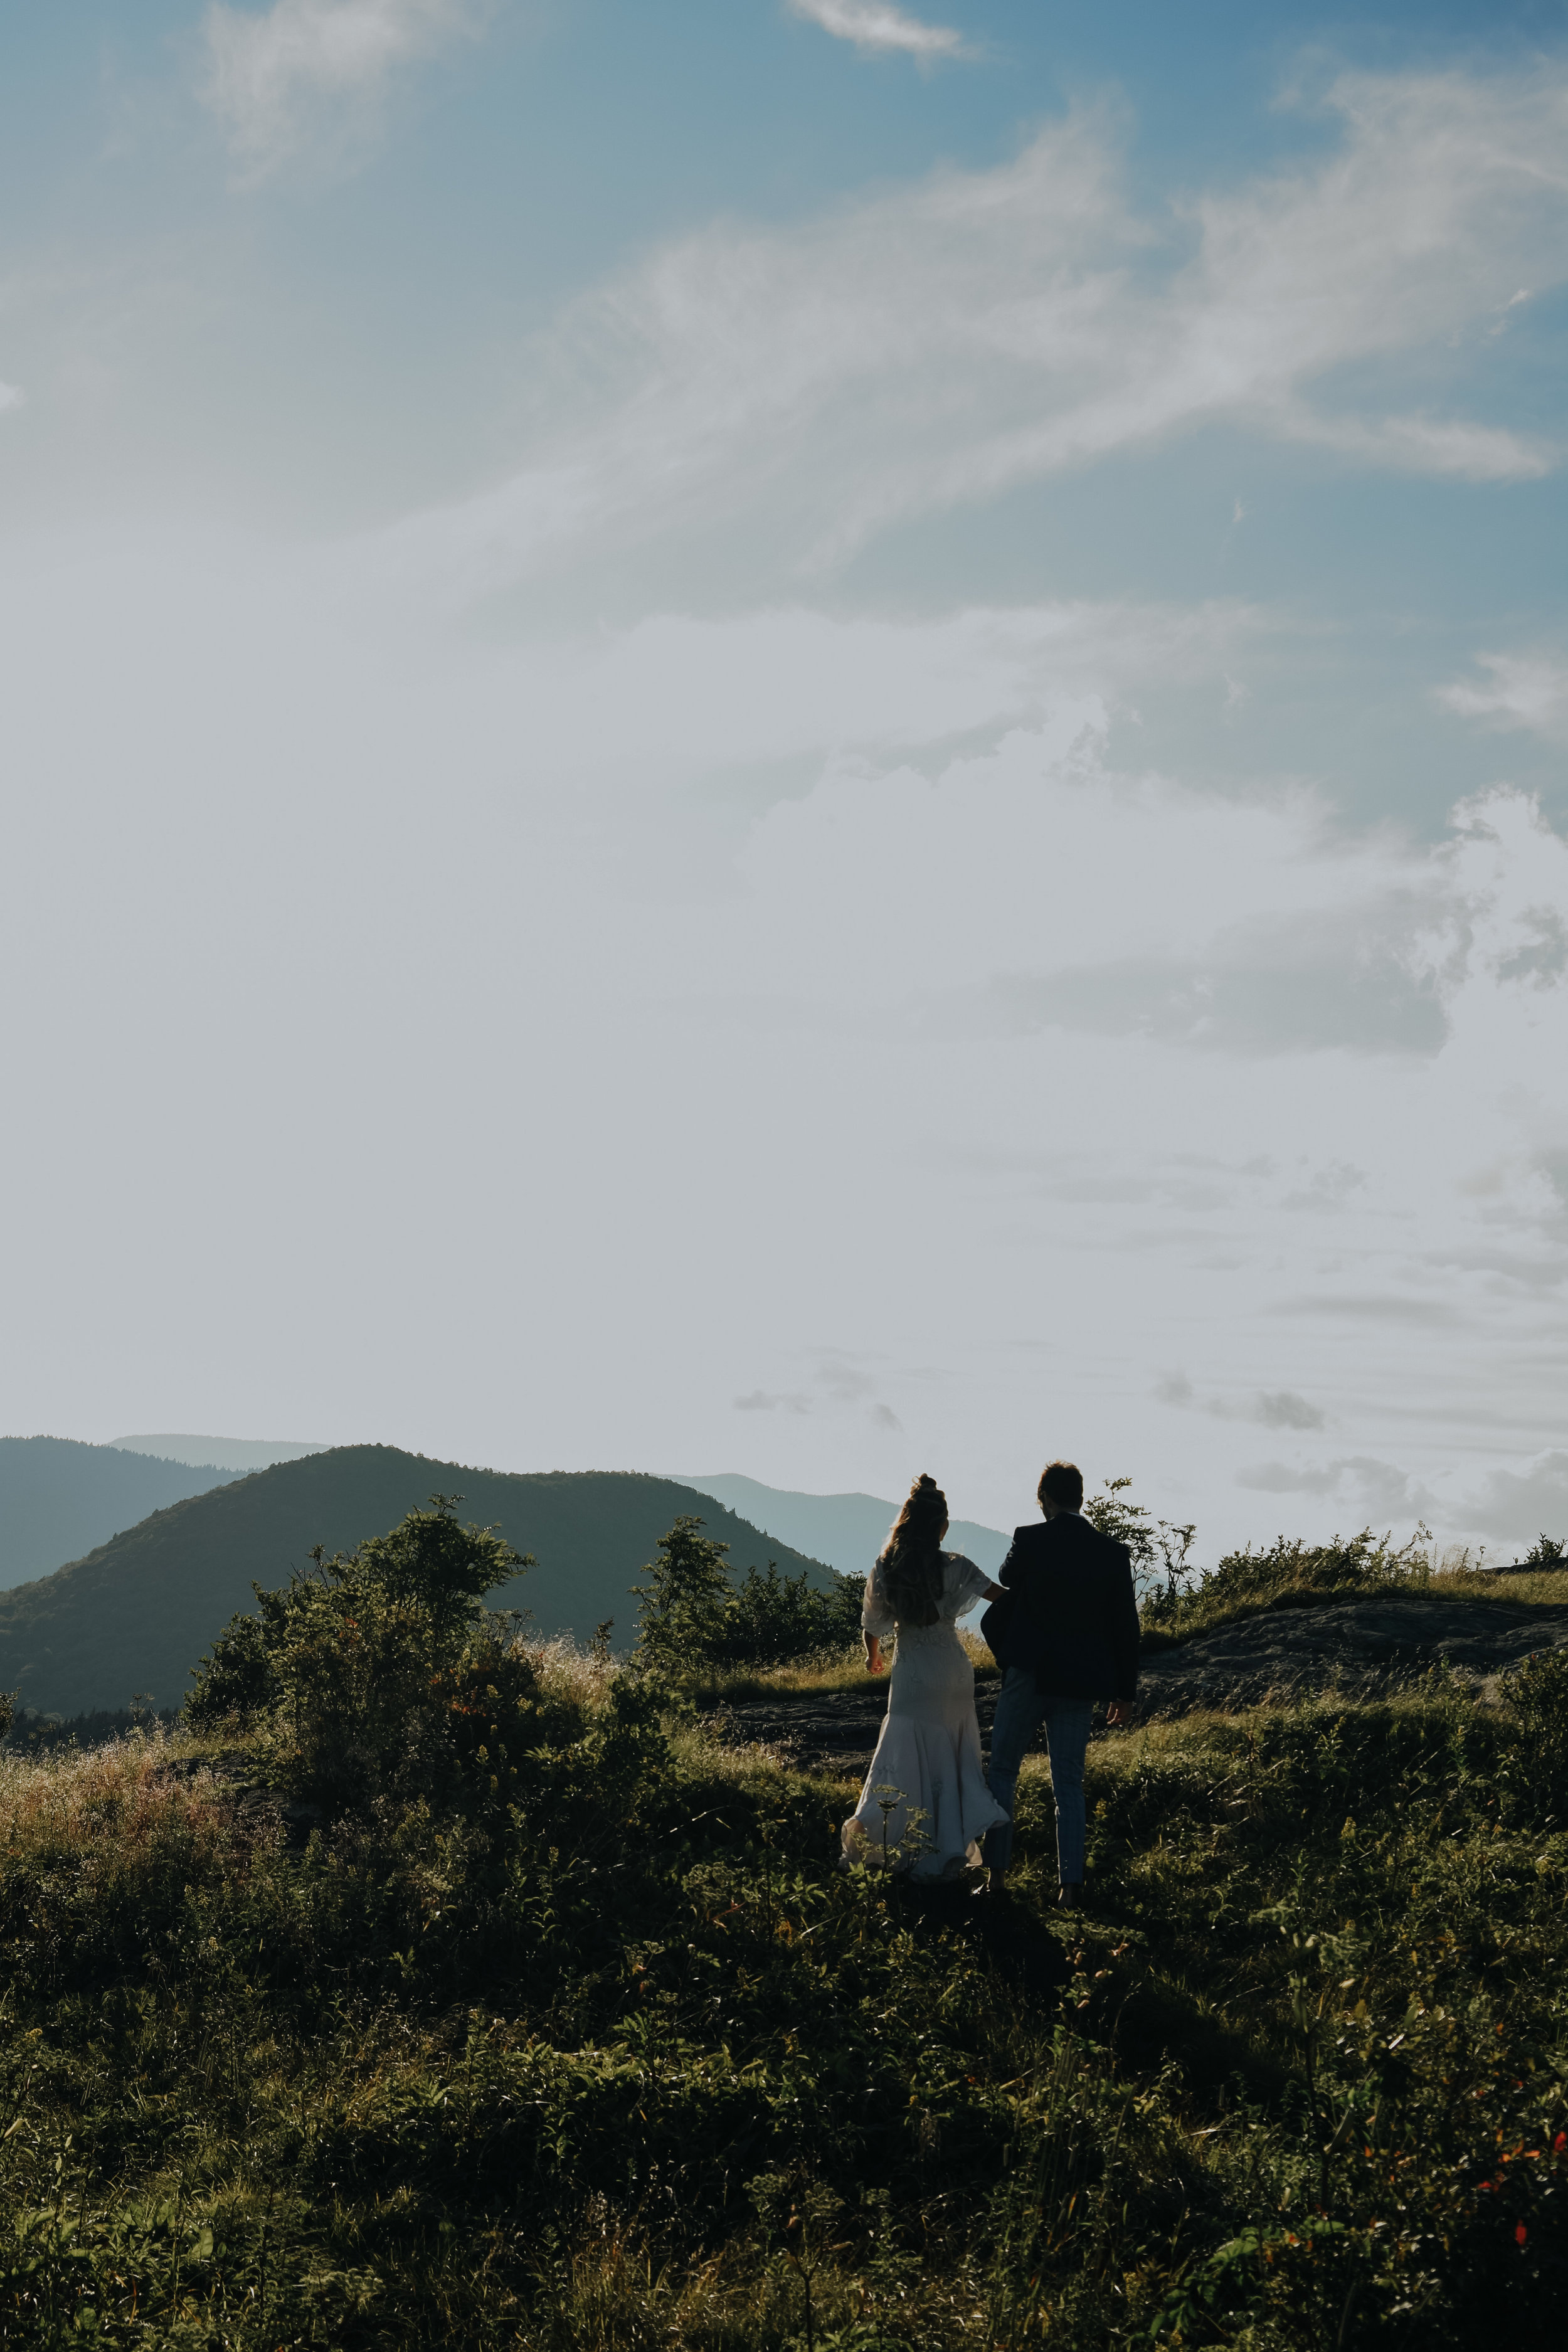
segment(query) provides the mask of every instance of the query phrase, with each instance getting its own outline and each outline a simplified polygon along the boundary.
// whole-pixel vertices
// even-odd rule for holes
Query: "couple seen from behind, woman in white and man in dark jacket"
[[[980,1865],[983,1839],[992,1889],[1001,1886],[1018,1771],[1044,1724],[1060,1900],[1077,1905],[1088,1722],[1095,1698],[1112,1700],[1112,1724],[1131,1719],[1138,1602],[1126,1545],[1081,1517],[1084,1479],[1072,1463],[1044,1472],[1039,1510],[1039,1526],[1013,1531],[1001,1583],[992,1583],[973,1559],[943,1550],[947,1498],[936,1479],[914,1479],[865,1581],[860,1623],[870,1670],[882,1672],[882,1639],[893,1630],[898,1649],[877,1755],[844,1823],[846,1860],[879,1860],[900,1846],[910,1877],[959,1879]],[[990,1785],[980,1766],[976,1670],[957,1630],[976,1599],[992,1604],[980,1630],[1001,1668]],[[919,1813],[914,1828],[912,1813]]]

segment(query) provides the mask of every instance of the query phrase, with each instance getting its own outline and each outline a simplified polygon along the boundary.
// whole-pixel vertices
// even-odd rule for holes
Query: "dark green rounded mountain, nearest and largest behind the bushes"
[[[545,1635],[583,1637],[614,1618],[614,1646],[630,1646],[637,1604],[628,1585],[682,1512],[729,1543],[738,1573],[776,1559],[788,1576],[804,1569],[813,1585],[832,1583],[820,1559],[677,1479],[628,1470],[520,1477],[395,1446],[334,1446],[174,1503],[54,1576],[0,1592],[0,1689],[45,1715],[122,1708],[136,1691],[179,1705],[214,1635],[254,1609],[252,1581],[282,1585],[315,1543],[348,1550],[437,1491],[461,1494],[465,1519],[536,1555],[538,1566],[494,1592],[491,1606],[531,1609]]]

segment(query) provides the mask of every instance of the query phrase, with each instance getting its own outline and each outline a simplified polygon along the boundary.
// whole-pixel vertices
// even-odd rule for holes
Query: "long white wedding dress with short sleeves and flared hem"
[[[985,1785],[976,1670],[954,1623],[983,1583],[973,1559],[943,1552],[936,1625],[898,1625],[889,1710],[860,1804],[844,1823],[844,1863],[879,1865],[886,1856],[912,1879],[957,1879],[980,1867],[980,1839],[1009,1818]],[[865,1581],[860,1623],[893,1632],[882,1562]],[[912,1823],[912,1813],[922,1818]]]

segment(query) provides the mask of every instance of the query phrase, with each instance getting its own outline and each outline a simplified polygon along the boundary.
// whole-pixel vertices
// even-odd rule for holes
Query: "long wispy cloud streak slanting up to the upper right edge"
[[[1568,275],[1568,71],[1347,78],[1331,106],[1326,158],[1175,219],[1077,113],[997,169],[668,245],[536,353],[529,466],[411,524],[407,555],[475,588],[675,536],[682,562],[830,564],[1215,421],[1356,466],[1542,473],[1554,447],[1410,388],[1448,381],[1455,339],[1490,348],[1500,287]]]

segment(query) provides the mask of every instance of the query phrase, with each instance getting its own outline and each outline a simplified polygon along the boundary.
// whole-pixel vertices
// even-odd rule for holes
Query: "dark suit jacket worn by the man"
[[[1126,1543],[1095,1534],[1074,1510],[1013,1529],[994,1602],[997,1665],[1034,1670],[1051,1698],[1138,1696],[1138,1597]]]

